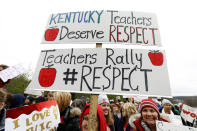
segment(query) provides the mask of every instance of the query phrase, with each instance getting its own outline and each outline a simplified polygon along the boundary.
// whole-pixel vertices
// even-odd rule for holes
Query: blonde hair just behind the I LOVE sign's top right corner
[[[58,107],[60,112],[64,111],[69,105],[71,101],[71,94],[68,92],[54,92],[54,99],[58,103]]]

